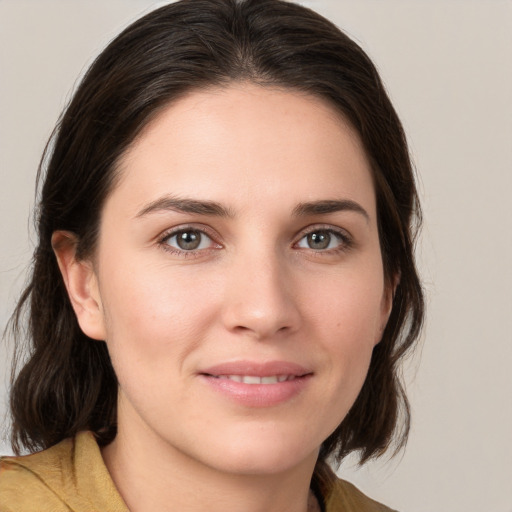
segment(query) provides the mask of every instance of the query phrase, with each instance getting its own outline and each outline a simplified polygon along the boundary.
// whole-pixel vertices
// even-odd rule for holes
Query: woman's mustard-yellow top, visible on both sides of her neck
[[[325,512],[392,512],[317,465],[313,490]],[[129,512],[90,432],[48,450],[0,459],[0,512]]]

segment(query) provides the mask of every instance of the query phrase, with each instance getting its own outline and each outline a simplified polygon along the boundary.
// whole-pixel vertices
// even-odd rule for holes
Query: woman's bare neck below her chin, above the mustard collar
[[[121,425],[120,425],[121,427]],[[306,512],[318,509],[309,491],[317,454],[272,474],[219,471],[170,447],[156,434],[119,429],[103,451],[130,512]]]

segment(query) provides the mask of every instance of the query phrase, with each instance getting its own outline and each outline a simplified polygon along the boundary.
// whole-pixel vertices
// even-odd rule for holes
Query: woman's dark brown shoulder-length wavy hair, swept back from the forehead
[[[281,0],[182,0],[126,28],[97,57],[61,115],[38,170],[38,245],[11,318],[18,359],[11,389],[16,453],[81,430],[116,435],[117,379],[105,342],[88,338],[71,307],[51,237],[72,232],[79,259],[94,254],[116,163],[171,102],[194,90],[250,82],[329,102],[359,134],[371,163],[388,286],[396,285],[381,342],[357,400],[320,458],[360,461],[403,447],[410,426],[400,363],[419,337],[424,302],[414,263],[421,211],[406,138],[375,66],[319,14]],[[15,357],[16,360],[16,357]],[[16,375],[17,373],[17,375]]]

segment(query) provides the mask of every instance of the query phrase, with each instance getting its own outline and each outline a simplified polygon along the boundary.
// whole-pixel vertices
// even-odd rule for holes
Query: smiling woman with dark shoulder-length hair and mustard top
[[[36,453],[2,460],[0,510],[389,510],[327,466],[404,445],[423,315],[407,145],[364,52],[279,0],[162,7],[43,164],[11,394]]]

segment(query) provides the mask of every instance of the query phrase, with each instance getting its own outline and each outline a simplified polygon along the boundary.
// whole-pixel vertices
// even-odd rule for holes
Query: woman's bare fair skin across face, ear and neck
[[[54,246],[81,328],[106,340],[119,379],[119,433],[103,457],[121,495],[132,512],[304,512],[319,447],[390,313],[358,136],[321,99],[234,84],[168,106],[119,173],[94,258],[77,261],[69,233]],[[163,197],[227,215],[155,208]],[[360,211],[296,214],[327,200]],[[207,236],[184,251],[173,229]],[[311,233],[329,246],[312,248]],[[310,374],[291,398],[254,407],[200,375],[240,360]]]

